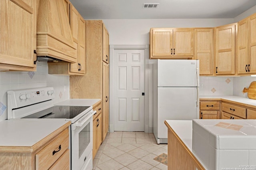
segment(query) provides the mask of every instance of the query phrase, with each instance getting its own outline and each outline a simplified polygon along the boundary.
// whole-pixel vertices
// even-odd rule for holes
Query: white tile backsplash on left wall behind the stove
[[[54,103],[69,99],[69,76],[48,74],[48,64],[37,61],[36,72],[0,72],[0,121],[7,119],[7,91],[52,86]]]

